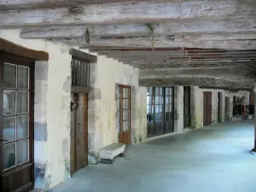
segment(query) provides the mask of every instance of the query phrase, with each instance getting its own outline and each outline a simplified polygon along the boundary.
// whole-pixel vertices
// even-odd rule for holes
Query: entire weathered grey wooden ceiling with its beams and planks
[[[0,0],[0,28],[129,64],[144,86],[255,82],[255,0]]]

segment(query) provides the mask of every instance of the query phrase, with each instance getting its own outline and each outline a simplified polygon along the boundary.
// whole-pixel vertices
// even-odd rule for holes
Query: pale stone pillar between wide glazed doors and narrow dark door
[[[183,86],[174,87],[174,131],[183,132]]]

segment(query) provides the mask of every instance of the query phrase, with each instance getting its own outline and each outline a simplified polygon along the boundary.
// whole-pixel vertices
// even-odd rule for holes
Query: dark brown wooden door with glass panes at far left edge
[[[34,185],[34,64],[0,53],[0,191],[27,191]]]

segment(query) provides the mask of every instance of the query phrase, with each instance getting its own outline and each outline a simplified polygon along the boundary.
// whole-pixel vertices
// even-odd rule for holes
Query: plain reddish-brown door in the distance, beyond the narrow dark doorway
[[[204,126],[212,124],[212,92],[204,92]]]

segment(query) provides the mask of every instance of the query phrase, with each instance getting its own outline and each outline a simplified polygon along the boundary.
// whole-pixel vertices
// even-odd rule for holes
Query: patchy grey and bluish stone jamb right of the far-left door
[[[48,62],[37,61],[35,64],[34,95],[34,162],[35,189],[45,188],[46,161],[44,145],[47,141],[47,90]]]

